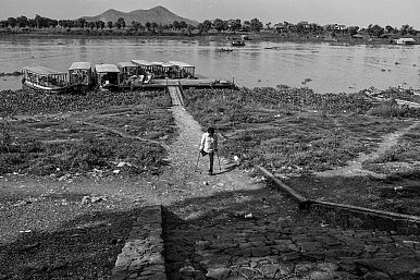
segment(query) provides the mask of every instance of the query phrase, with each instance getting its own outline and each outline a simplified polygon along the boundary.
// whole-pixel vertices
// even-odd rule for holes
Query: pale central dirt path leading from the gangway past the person
[[[217,193],[255,191],[264,187],[263,182],[252,180],[223,158],[220,159],[221,170],[218,159],[214,158],[215,175],[207,174],[208,157],[200,157],[196,170],[201,127],[184,107],[175,106],[171,110],[178,127],[178,137],[169,147],[169,167],[153,181],[156,190],[160,193],[160,204],[168,206],[187,199],[209,197]],[[205,211],[205,209],[188,209],[187,206],[181,208],[178,210],[184,212],[177,212],[177,215],[186,219],[197,217]]]

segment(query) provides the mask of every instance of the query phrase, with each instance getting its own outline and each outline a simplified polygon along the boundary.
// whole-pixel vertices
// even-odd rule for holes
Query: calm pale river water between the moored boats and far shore
[[[232,52],[227,40],[172,39],[15,39],[0,38],[0,72],[42,65],[66,71],[74,61],[116,63],[132,59],[178,60],[196,73],[232,80],[240,86],[285,84],[318,93],[351,93],[370,86],[385,89],[403,84],[420,88],[420,45],[343,46],[249,41]],[[275,49],[265,49],[275,47]],[[309,81],[306,84],[305,81]],[[0,89],[21,88],[21,77],[0,77]]]

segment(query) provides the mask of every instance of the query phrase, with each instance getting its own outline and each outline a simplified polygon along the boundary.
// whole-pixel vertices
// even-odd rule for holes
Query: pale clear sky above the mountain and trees
[[[398,28],[408,24],[420,29],[420,0],[0,0],[0,20],[20,15],[33,19],[36,14],[72,20],[97,15],[108,9],[131,12],[157,5],[198,22],[257,17],[272,24],[308,21],[320,25],[379,24]]]

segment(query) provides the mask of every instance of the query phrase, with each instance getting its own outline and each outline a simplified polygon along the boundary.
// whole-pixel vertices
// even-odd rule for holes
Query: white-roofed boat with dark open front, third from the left
[[[95,78],[101,90],[120,89],[120,70],[115,64],[96,64]]]

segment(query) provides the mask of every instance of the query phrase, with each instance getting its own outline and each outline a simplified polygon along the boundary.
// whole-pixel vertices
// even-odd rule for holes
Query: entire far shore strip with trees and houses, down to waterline
[[[188,20],[189,21],[189,20]],[[380,26],[370,24],[367,27],[346,26],[343,24],[319,25],[306,21],[299,23],[262,23],[258,19],[240,21],[238,19],[223,21],[221,19],[206,20],[201,23],[190,24],[186,21],[173,22],[126,22],[124,17],[114,21],[88,21],[84,17],[77,20],[51,20],[40,15],[28,19],[24,15],[9,17],[0,21],[0,33],[48,33],[70,35],[218,35],[254,33],[259,35],[275,35],[284,38],[320,38],[336,40],[348,37],[354,40],[382,39],[395,44],[416,44],[419,31],[406,24],[402,27],[391,25]]]

